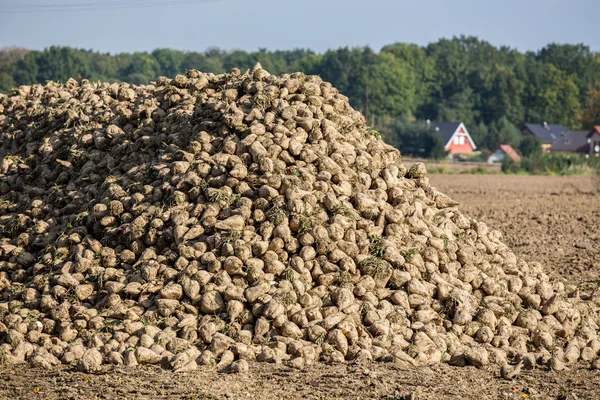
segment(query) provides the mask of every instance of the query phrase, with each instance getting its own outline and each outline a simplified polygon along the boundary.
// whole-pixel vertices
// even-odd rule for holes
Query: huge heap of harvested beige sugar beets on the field
[[[21,86],[0,160],[0,363],[600,368],[600,291],[518,259],[319,77]]]

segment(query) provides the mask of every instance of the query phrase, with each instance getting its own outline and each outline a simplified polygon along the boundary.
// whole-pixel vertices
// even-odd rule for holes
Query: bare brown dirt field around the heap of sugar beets
[[[556,278],[600,281],[599,182],[590,177],[433,175],[434,186],[469,216],[505,233],[527,260]],[[320,365],[303,371],[251,365],[248,375],[214,371],[173,374],[160,368],[85,375],[0,367],[2,399],[598,399],[600,372],[524,371],[513,381],[497,368],[446,365],[401,370],[391,364]]]

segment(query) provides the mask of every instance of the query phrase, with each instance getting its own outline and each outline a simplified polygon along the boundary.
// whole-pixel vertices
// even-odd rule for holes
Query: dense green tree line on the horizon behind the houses
[[[142,84],[187,69],[221,73],[256,62],[274,74],[320,75],[367,114],[388,141],[414,149],[414,155],[440,154],[439,143],[430,143],[436,135],[410,124],[415,120],[464,122],[478,148],[492,151],[501,143],[519,146],[517,127],[524,122],[547,121],[569,129],[600,124],[600,53],[583,44],[549,44],[523,53],[465,36],[427,46],[395,43],[379,52],[345,47],[323,54],[212,48],[111,55],[58,46],[9,48],[0,51],[0,93],[71,77]]]

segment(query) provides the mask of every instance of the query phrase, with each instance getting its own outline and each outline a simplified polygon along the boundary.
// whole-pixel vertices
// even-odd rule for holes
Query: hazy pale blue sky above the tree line
[[[102,52],[311,48],[476,35],[537,50],[600,50],[600,0],[0,0],[0,48]]]

